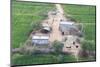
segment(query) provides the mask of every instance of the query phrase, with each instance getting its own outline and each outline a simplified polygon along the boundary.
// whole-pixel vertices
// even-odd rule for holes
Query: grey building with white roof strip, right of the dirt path
[[[72,21],[61,21],[59,24],[59,30],[62,32],[63,35],[74,35],[78,32],[78,28]]]

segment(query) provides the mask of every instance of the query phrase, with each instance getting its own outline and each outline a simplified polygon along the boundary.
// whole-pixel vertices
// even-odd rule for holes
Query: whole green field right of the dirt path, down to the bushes
[[[83,5],[63,5],[65,16],[71,15],[71,18],[84,26],[84,35],[87,40],[95,40],[95,6]]]

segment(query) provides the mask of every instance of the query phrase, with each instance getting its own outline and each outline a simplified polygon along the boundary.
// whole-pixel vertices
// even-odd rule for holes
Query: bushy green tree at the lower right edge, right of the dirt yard
[[[95,41],[92,41],[92,40],[83,40],[81,42],[81,47],[82,47],[82,55],[84,57],[88,57],[90,55],[93,55],[95,56],[95,49],[96,49],[96,46],[95,46]]]

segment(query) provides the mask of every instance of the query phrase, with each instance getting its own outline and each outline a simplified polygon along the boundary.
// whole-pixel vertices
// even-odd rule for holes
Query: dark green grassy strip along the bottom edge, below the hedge
[[[51,63],[63,63],[63,62],[75,62],[76,59],[72,55],[63,55],[63,58],[59,60],[58,55],[53,54],[39,54],[39,55],[20,55],[15,54],[12,57],[13,65],[27,65],[27,64],[51,64]]]

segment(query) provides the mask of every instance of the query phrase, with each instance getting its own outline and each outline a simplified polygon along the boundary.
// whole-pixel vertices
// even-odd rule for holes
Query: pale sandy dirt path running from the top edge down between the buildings
[[[56,6],[56,15],[49,15],[49,18],[52,18],[52,33],[50,34],[50,41],[53,42],[55,40],[62,41],[62,34],[59,31],[59,23],[60,20],[66,20],[64,17],[64,11],[60,4],[55,4]],[[50,21],[50,20],[49,20]]]

